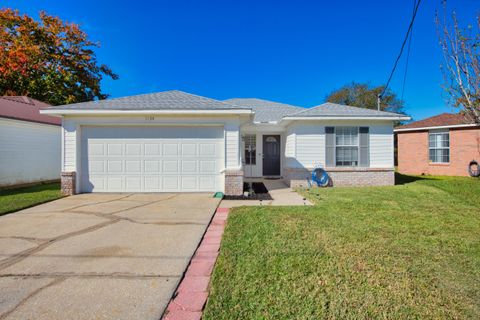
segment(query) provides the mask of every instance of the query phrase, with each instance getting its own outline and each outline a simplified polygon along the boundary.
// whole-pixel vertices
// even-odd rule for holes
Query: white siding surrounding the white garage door
[[[63,171],[80,170],[80,144],[82,126],[121,126],[121,125],[185,125],[205,126],[223,125],[225,133],[225,169],[238,170],[240,163],[240,135],[239,117],[188,117],[188,116],[96,116],[96,117],[75,117],[63,118]],[[80,190],[80,179],[77,179],[77,190]]]

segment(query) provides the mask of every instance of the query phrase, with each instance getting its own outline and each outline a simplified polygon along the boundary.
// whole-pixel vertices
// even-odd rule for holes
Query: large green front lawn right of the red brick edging
[[[233,210],[203,319],[479,319],[480,180],[397,181]]]

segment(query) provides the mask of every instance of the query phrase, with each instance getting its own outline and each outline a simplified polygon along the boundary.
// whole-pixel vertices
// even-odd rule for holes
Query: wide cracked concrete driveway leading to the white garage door
[[[0,217],[0,319],[156,319],[212,194],[82,194]]]

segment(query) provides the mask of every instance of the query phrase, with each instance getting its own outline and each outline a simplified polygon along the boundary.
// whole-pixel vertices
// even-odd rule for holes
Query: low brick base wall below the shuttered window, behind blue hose
[[[325,168],[334,187],[390,186],[395,184],[395,171],[383,168]],[[291,188],[308,187],[312,169],[284,168],[284,180]]]

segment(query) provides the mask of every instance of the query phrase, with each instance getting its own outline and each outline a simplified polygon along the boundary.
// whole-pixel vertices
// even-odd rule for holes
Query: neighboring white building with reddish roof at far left
[[[0,187],[60,179],[61,119],[50,105],[25,96],[0,96]]]

